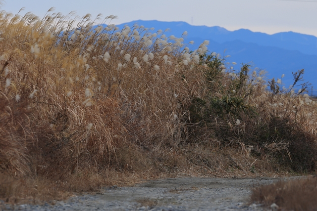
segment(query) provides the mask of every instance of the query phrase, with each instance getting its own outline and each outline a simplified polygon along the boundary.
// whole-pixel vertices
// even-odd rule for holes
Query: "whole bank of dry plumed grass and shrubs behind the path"
[[[316,169],[308,95],[267,90],[263,71],[230,70],[208,42],[190,50],[161,30],[50,12],[0,12],[1,198],[37,199],[37,182],[58,198],[142,178]]]

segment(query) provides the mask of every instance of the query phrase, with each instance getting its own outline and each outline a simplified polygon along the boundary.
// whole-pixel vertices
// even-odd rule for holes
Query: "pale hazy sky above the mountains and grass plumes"
[[[317,0],[4,0],[1,10],[16,14],[22,7],[20,15],[32,12],[41,18],[55,7],[54,12],[63,15],[71,11],[80,17],[116,15],[113,24],[140,19],[185,21],[230,31],[293,31],[317,37]]]

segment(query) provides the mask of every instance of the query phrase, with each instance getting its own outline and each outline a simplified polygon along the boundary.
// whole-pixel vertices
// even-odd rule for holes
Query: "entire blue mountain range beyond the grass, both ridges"
[[[192,26],[186,22],[156,20],[137,20],[117,26],[132,27],[134,24],[146,28],[154,27],[153,33],[169,28],[169,31],[164,32],[166,36],[181,37],[183,32],[187,31],[185,43],[193,40],[195,43],[189,46],[192,49],[197,49],[200,43],[209,40],[208,49],[211,52],[230,55],[228,62],[250,63],[253,67],[266,70],[268,78],[277,79],[285,74],[283,83],[286,87],[293,84],[292,72],[305,69],[304,80],[313,84],[313,94],[317,95],[317,37],[294,32],[268,35],[246,29],[228,31],[218,26]],[[238,65],[234,66],[234,69],[238,68]]]

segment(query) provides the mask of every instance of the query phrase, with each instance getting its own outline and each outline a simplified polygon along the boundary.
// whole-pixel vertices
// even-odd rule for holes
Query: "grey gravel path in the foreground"
[[[277,178],[168,178],[134,187],[112,186],[100,193],[71,197],[54,205],[3,205],[20,211],[263,211],[246,202],[254,185]],[[1,208],[1,207],[0,207]]]

